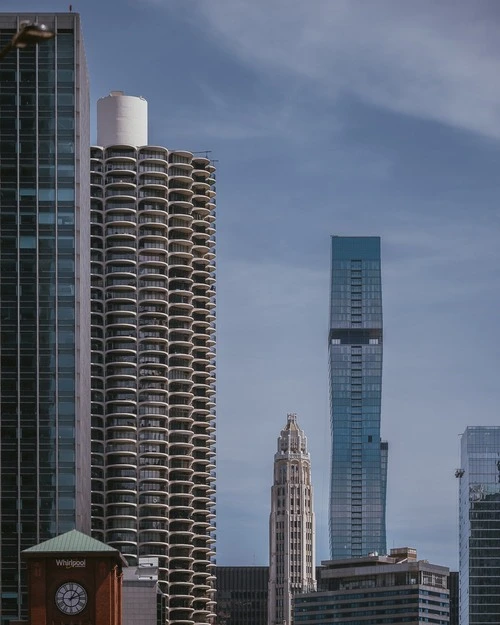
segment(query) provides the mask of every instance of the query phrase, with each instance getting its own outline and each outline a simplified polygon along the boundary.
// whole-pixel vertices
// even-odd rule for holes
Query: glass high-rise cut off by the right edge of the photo
[[[460,478],[460,624],[500,623],[500,427],[468,427]]]

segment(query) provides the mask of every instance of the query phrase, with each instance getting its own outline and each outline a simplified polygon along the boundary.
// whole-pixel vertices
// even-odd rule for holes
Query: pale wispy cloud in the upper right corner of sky
[[[500,137],[498,11],[491,2],[212,0],[206,33],[249,66],[335,98]],[[194,17],[193,17],[194,19]]]

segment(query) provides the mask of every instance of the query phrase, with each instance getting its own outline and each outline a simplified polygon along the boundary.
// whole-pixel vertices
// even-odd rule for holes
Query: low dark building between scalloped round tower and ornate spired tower
[[[267,625],[269,567],[218,566],[216,579],[217,625]]]

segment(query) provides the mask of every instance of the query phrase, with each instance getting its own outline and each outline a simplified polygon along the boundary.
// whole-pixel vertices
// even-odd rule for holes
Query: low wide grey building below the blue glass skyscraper
[[[294,597],[295,625],[448,625],[448,569],[415,549],[323,562],[320,590]]]

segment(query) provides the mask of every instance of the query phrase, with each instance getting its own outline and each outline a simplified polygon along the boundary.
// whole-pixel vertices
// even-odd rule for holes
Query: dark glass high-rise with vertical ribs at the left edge
[[[26,615],[20,553],[90,531],[89,88],[80,19],[0,63],[0,623]]]

